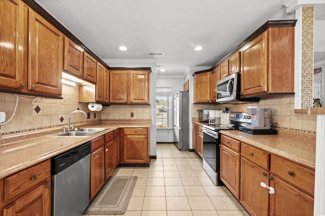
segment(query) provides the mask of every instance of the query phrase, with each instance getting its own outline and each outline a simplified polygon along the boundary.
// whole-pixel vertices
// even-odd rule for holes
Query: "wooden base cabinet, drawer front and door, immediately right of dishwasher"
[[[101,190],[105,183],[104,136],[91,140],[90,193],[89,201]]]

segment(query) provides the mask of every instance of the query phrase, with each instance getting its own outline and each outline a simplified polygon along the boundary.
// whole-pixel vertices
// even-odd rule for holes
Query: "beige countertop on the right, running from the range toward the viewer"
[[[238,130],[221,130],[220,133],[273,155],[315,169],[316,142],[313,138],[306,139],[306,137],[302,138],[297,134],[291,136],[287,133],[282,134],[282,132],[276,135],[253,135]]]

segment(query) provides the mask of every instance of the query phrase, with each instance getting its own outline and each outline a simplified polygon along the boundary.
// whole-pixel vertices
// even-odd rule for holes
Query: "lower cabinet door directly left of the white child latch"
[[[269,172],[241,157],[240,162],[240,203],[250,215],[269,215]]]

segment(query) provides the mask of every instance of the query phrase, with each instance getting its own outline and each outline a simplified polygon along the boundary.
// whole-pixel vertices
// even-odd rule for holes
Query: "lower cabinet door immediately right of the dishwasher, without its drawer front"
[[[90,200],[99,192],[105,183],[104,147],[90,155]]]

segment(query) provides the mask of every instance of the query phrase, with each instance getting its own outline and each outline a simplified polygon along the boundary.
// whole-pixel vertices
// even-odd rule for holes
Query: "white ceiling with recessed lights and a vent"
[[[158,75],[213,66],[285,0],[36,0],[101,59],[157,59]],[[119,46],[127,51],[120,51]],[[203,50],[194,51],[202,46]],[[163,52],[163,56],[149,53]],[[109,65],[109,64],[108,64]],[[159,68],[159,67],[158,67]]]

